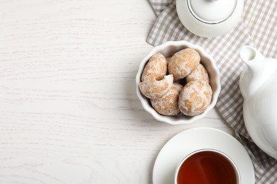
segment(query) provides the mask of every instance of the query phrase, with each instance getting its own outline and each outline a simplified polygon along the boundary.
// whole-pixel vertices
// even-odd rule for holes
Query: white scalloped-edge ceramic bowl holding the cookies
[[[204,67],[207,69],[207,72],[210,76],[210,86],[212,87],[212,101],[208,108],[201,113],[200,115],[195,116],[186,116],[186,115],[178,115],[178,116],[165,116],[161,115],[156,112],[155,109],[152,108],[151,102],[148,98],[143,96],[139,89],[139,83],[141,82],[141,74],[143,72],[144,67],[146,66],[148,60],[153,56],[153,54],[161,53],[165,57],[172,56],[175,52],[178,52],[179,50],[183,50],[185,48],[192,48],[199,52],[201,57],[201,64],[204,65]],[[217,69],[214,59],[205,52],[205,50],[198,46],[194,45],[187,41],[170,41],[165,42],[163,45],[159,45],[157,47],[153,47],[153,50],[149,52],[149,54],[144,57],[141,61],[141,64],[139,65],[139,71],[136,74],[136,93],[139,97],[139,100],[141,100],[141,104],[143,108],[153,115],[153,117],[156,118],[156,120],[161,122],[167,122],[171,125],[179,125],[179,124],[189,124],[191,122],[194,122],[195,120],[199,120],[202,117],[205,117],[207,113],[214,108],[214,105],[217,103],[217,98],[219,96],[221,86],[220,86],[220,76],[219,76],[219,70]]]

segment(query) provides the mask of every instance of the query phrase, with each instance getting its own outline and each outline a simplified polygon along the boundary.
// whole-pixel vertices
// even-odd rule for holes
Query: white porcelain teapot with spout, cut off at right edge
[[[277,159],[277,60],[251,46],[240,51],[246,68],[239,87],[244,97],[244,123],[251,139]]]

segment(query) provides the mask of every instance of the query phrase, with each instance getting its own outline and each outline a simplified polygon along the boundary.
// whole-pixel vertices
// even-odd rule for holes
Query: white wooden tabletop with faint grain
[[[152,183],[171,137],[136,96],[148,0],[0,0],[0,183]]]

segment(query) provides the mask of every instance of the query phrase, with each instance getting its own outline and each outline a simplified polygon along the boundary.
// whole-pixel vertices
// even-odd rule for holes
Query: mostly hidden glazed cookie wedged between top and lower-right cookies
[[[196,69],[193,70],[187,77],[186,81],[189,83],[190,81],[196,81],[196,80],[204,80],[208,84],[210,83],[209,81],[209,75],[207,73],[207,70],[205,67],[200,63],[197,65]]]

